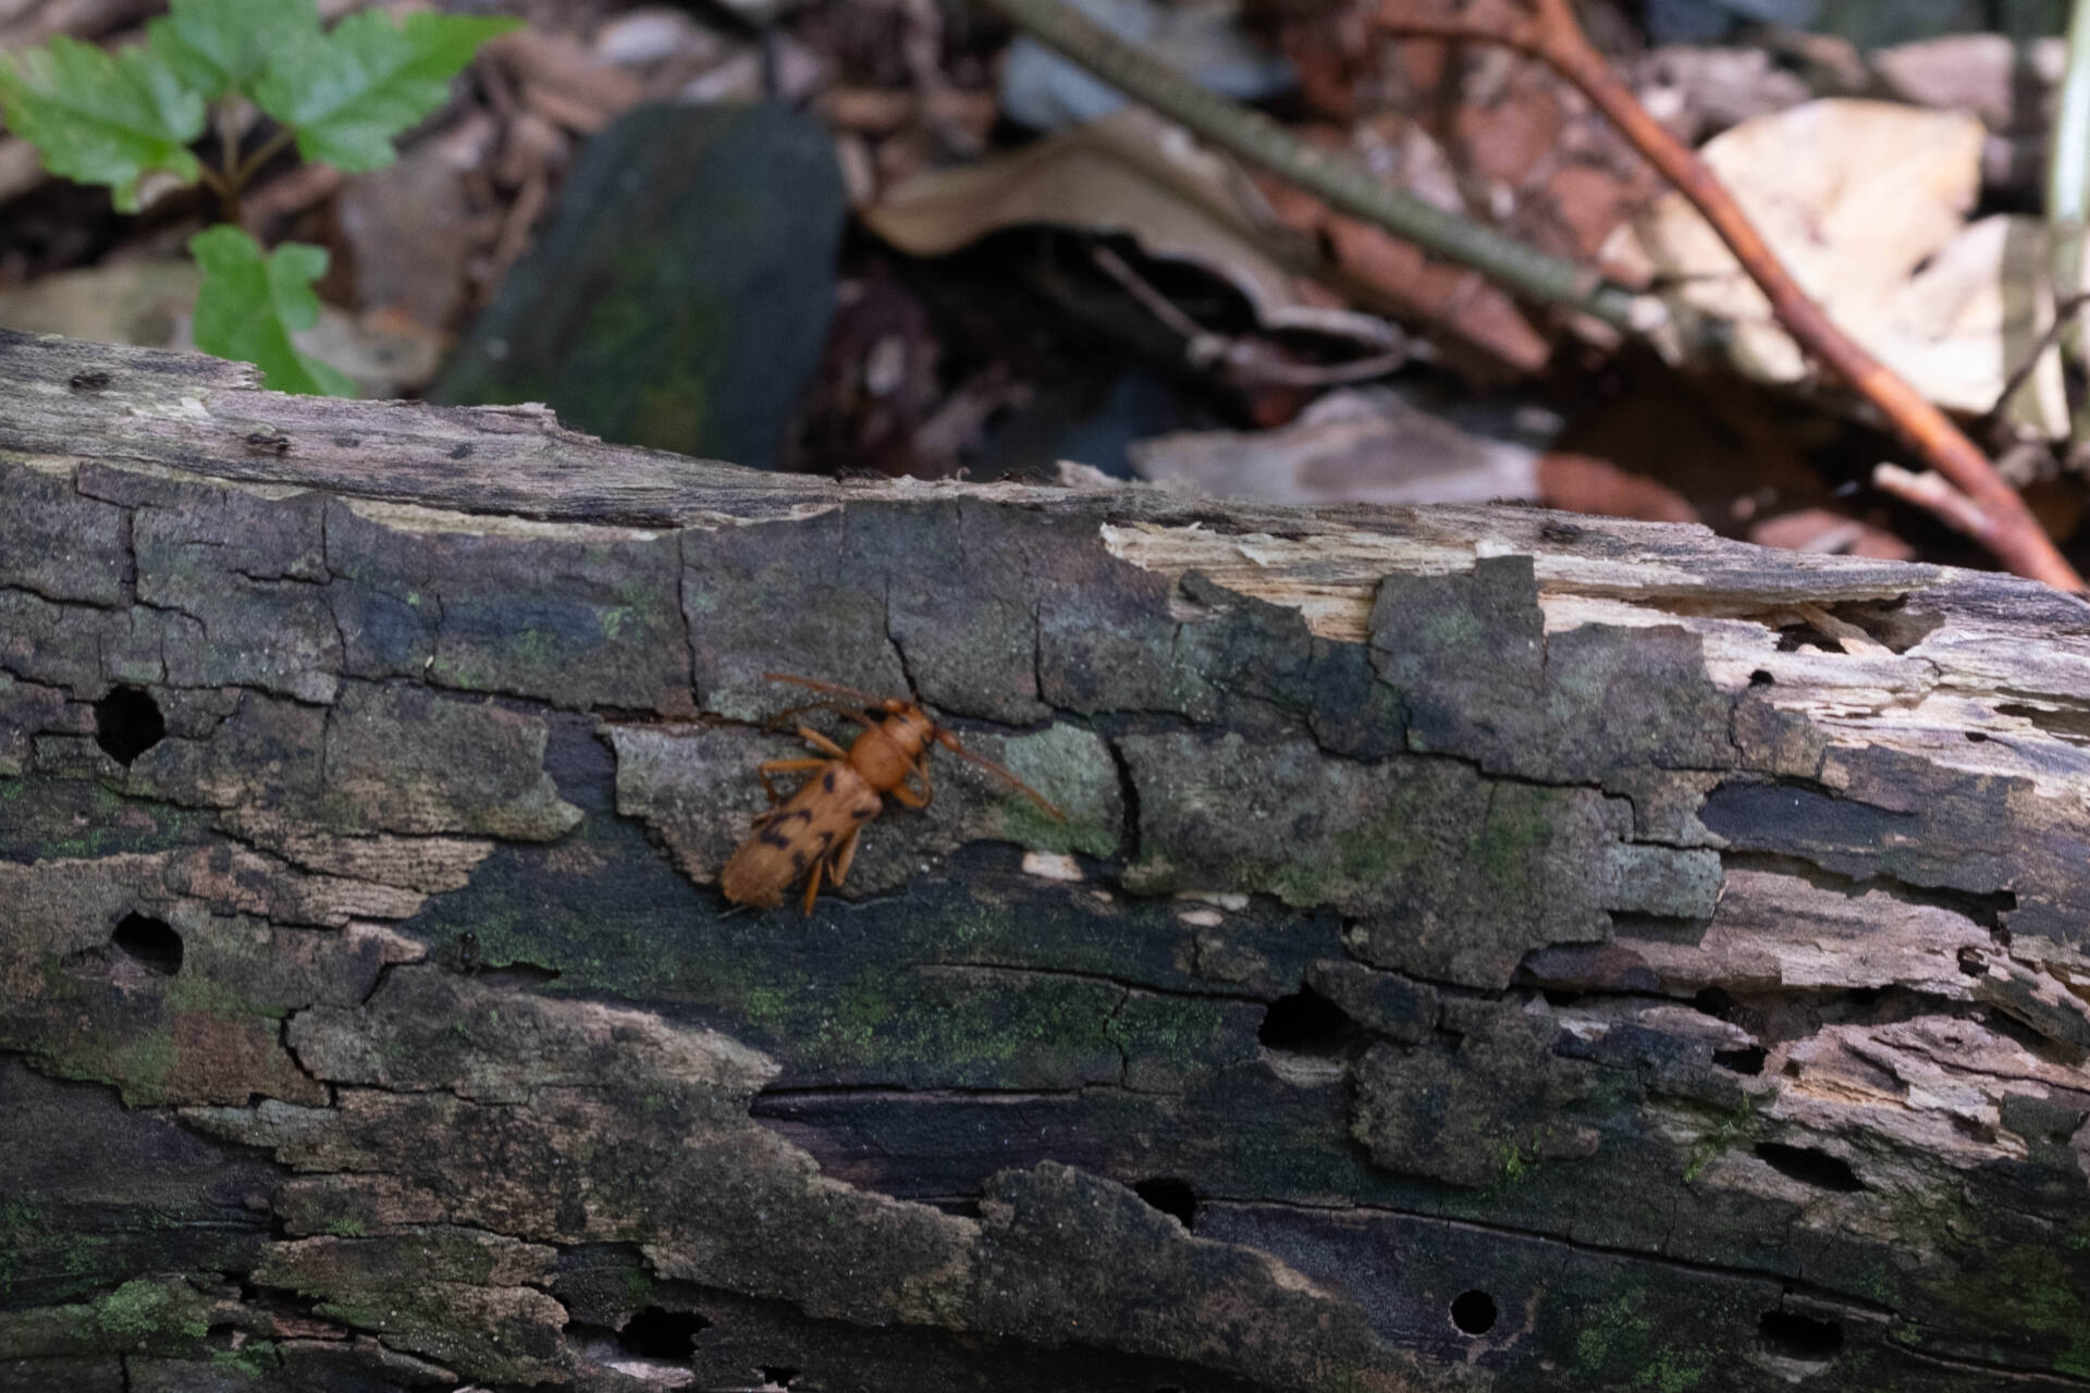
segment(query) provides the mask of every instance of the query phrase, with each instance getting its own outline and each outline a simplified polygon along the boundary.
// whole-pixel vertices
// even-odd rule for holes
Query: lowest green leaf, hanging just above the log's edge
[[[291,334],[320,322],[311,282],[326,274],[326,249],[284,242],[263,255],[238,228],[205,228],[188,238],[203,267],[196,294],[196,347],[217,357],[255,363],[278,393],[353,397],[355,382],[336,368],[305,357]]]

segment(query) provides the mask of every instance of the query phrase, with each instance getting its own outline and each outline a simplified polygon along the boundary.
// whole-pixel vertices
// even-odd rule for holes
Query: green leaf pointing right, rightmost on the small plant
[[[305,159],[355,173],[393,161],[393,136],[412,129],[449,96],[483,42],[516,19],[349,15],[332,33],[286,42],[253,88],[255,104],[297,132]]]

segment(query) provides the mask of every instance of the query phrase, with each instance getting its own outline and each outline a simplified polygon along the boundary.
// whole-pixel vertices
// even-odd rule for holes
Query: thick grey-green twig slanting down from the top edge
[[[1599,271],[1503,236],[1494,228],[1386,188],[1352,159],[1315,150],[1258,111],[1231,102],[1127,44],[1064,0],[974,0],[1058,48],[1110,86],[1181,121],[1212,144],[1262,165],[1327,205],[1373,221],[1427,253],[1459,261],[1496,284],[1620,330],[1647,330],[1668,313]]]

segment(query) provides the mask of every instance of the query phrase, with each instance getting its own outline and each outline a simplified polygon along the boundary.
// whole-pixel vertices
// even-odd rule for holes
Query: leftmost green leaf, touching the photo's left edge
[[[0,54],[0,115],[44,169],[107,184],[119,213],[138,211],[138,182],[155,169],[196,178],[188,142],[203,134],[203,98],[146,48],[104,52],[61,33]]]

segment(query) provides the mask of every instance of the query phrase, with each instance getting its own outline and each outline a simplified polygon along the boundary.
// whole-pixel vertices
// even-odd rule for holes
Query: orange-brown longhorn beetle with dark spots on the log
[[[763,677],[773,683],[798,683],[813,691],[851,698],[884,714],[882,718],[869,716],[855,706],[832,700],[811,702],[811,706],[832,706],[844,718],[861,725],[863,733],[844,750],[813,727],[800,725],[798,737],[819,750],[823,758],[765,760],[757,766],[769,802],[782,806],[754,817],[754,835],[740,844],[740,850],[719,873],[719,888],[734,904],[769,908],[805,875],[805,913],[811,915],[813,898],[819,894],[819,877],[826,875],[834,886],[842,883],[842,877],[849,875],[849,863],[857,858],[857,833],[884,808],[884,794],[892,794],[907,808],[928,806],[932,798],[928,783],[930,746],[943,746],[951,754],[1001,775],[1055,819],[1066,821],[1066,812],[1051,806],[1035,787],[957,743],[957,735],[930,721],[922,702],[876,698],[855,687],[788,672],[763,672]],[[809,708],[794,706],[784,714],[800,710]],[[769,783],[769,775],[775,773],[807,773],[811,777],[786,802]],[[909,787],[909,779],[922,783],[920,794]]]

